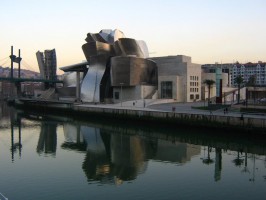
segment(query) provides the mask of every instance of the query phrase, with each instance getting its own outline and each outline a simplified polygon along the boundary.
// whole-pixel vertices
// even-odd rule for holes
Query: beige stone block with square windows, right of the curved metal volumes
[[[184,55],[154,57],[158,67],[158,98],[177,102],[201,100],[201,65]]]

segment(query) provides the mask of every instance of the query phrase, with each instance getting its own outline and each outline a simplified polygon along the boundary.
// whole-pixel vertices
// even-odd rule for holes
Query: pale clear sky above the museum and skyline
[[[128,38],[144,40],[151,57],[187,55],[198,64],[266,62],[266,0],[0,3],[0,65],[11,46],[15,55],[21,50],[22,69],[39,71],[36,52],[54,48],[58,68],[80,63],[87,33],[102,29],[119,29]]]

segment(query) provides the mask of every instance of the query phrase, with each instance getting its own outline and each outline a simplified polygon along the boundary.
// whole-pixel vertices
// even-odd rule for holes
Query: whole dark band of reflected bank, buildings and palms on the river
[[[25,113],[20,116],[29,118]],[[38,120],[40,117],[34,119]],[[13,117],[12,120],[11,124],[21,127],[20,117]],[[118,185],[124,181],[133,181],[147,171],[149,161],[184,165],[193,158],[198,158],[203,166],[208,165],[214,169],[214,181],[222,180],[223,155],[234,156],[231,159],[232,166],[240,168],[242,174],[249,175],[248,181],[256,180],[256,162],[262,160],[266,165],[266,158],[262,159],[266,152],[264,142],[255,137],[241,140],[231,135],[213,137],[187,130],[163,132],[79,122],[68,118],[55,120],[48,116],[40,120],[40,134],[36,144],[38,154],[56,156],[58,126],[62,126],[64,132],[64,142],[60,147],[84,153],[84,161],[80,165],[89,183],[96,181]],[[17,150],[21,154],[21,133],[19,138],[19,145],[15,142],[11,144],[12,154]]]

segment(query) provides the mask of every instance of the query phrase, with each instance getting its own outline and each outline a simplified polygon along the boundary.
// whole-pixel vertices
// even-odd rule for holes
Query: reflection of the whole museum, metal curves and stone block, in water
[[[148,160],[185,163],[200,154],[200,146],[149,139],[127,134],[126,130],[105,130],[64,124],[63,148],[86,150],[82,164],[88,181],[121,184],[137,178],[147,169]]]

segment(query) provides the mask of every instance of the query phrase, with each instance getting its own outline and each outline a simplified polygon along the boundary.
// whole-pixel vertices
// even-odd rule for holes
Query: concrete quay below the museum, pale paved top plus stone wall
[[[236,106],[232,106],[225,113],[224,109],[210,112],[193,108],[204,106],[204,102],[145,101],[145,103],[143,100],[138,100],[137,102],[122,102],[122,104],[74,104],[73,111],[114,118],[122,117],[147,122],[155,121],[162,124],[171,123],[177,126],[184,124],[218,129],[238,129],[245,132],[266,134],[266,115],[261,113],[241,113]]]

